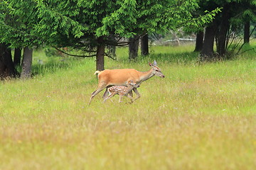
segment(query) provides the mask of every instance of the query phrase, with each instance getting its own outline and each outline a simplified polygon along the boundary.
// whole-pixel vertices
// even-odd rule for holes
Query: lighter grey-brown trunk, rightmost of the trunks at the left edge
[[[32,55],[33,55],[33,49],[24,47],[21,79],[27,79],[31,77]]]

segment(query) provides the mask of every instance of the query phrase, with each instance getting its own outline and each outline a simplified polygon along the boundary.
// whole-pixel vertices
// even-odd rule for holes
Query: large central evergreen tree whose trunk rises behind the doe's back
[[[197,7],[196,1],[171,0],[38,1],[41,21],[36,32],[50,45],[79,48],[89,52],[87,57],[96,55],[96,68],[102,70],[104,63],[100,62],[107,55],[103,46],[127,45],[129,41],[121,38],[139,38],[184,23],[196,25],[199,22],[192,19],[191,11]]]

